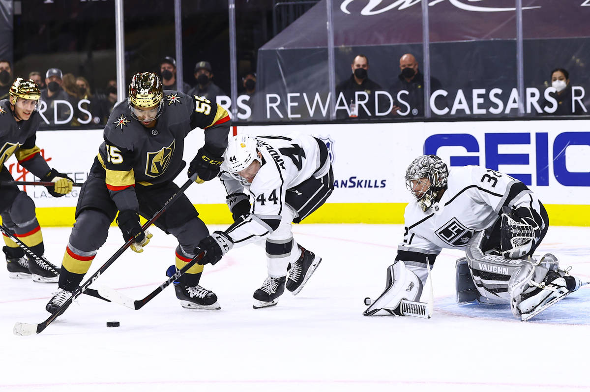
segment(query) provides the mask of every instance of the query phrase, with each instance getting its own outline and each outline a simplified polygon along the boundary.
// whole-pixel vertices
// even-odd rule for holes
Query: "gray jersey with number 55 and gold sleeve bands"
[[[97,158],[119,209],[136,210],[135,195],[115,195],[135,187],[172,181],[182,167],[184,139],[194,128],[205,130],[205,149],[221,156],[227,147],[230,116],[216,103],[165,90],[164,106],[154,128],[145,128],[125,100],[114,107]],[[196,151],[200,146],[192,146]]]

